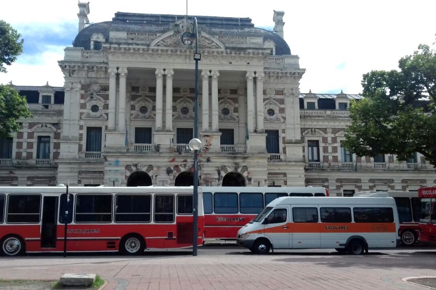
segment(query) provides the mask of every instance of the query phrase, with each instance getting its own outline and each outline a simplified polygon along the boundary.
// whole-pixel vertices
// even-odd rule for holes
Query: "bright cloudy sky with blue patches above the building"
[[[90,0],[90,22],[117,11],[185,14],[186,0]],[[0,73],[0,84],[63,86],[57,64],[78,32],[77,0],[14,0],[0,10],[24,39],[24,52]],[[435,0],[188,0],[189,15],[250,17],[272,30],[282,10],[284,39],[306,72],[300,92],[359,94],[364,73],[398,69],[419,44],[435,42]]]

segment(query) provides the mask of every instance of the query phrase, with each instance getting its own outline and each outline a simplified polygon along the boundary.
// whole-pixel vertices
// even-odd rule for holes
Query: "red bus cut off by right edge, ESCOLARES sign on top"
[[[436,187],[418,190],[421,198],[420,241],[436,243]]]

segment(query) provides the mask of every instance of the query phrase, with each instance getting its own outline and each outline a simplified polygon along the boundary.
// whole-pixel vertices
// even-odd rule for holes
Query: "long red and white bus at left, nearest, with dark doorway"
[[[1,187],[0,252],[137,255],[192,246],[192,187]],[[198,244],[204,241],[199,190]],[[68,212],[66,216],[64,213]],[[66,217],[66,219],[65,219]]]

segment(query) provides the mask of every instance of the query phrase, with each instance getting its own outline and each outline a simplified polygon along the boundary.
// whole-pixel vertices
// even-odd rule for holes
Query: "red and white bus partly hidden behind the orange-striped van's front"
[[[203,187],[205,238],[235,240],[238,230],[281,196],[329,196],[316,187]]]

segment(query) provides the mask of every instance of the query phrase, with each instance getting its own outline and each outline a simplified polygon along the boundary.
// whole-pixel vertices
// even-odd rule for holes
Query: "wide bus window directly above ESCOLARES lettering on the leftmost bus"
[[[76,223],[110,223],[111,221],[111,194],[76,195]]]

